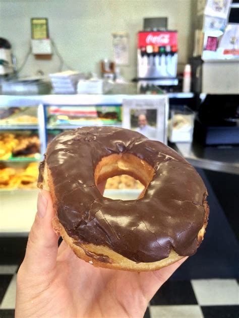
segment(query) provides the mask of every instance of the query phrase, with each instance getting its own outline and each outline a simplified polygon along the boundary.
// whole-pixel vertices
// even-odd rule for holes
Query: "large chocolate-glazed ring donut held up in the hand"
[[[207,225],[206,187],[174,150],[138,132],[84,127],[57,135],[40,164],[61,233],[95,266],[154,270],[196,253]],[[128,174],[144,184],[138,200],[111,200],[97,185]]]

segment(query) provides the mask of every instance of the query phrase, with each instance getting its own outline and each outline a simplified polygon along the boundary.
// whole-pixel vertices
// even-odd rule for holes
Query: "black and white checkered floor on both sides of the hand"
[[[17,269],[17,265],[0,265],[1,318],[14,317]],[[235,279],[169,280],[155,294],[144,317],[238,318],[238,301]]]

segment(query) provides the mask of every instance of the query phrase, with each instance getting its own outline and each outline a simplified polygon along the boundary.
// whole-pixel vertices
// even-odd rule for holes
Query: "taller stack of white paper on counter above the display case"
[[[76,94],[77,83],[84,78],[84,74],[67,70],[49,74],[49,77],[55,94]]]

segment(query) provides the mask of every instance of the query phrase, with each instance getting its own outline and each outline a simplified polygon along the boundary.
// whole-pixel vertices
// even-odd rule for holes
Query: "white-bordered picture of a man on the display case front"
[[[168,98],[139,97],[123,100],[123,128],[135,130],[152,140],[167,143]]]

